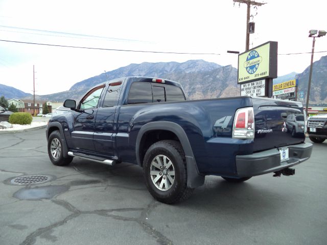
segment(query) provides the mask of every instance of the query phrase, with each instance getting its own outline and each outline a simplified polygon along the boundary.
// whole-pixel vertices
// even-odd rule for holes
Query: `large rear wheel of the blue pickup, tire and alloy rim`
[[[174,204],[191,197],[183,149],[179,142],[161,140],[150,146],[143,161],[146,185],[152,197]]]

